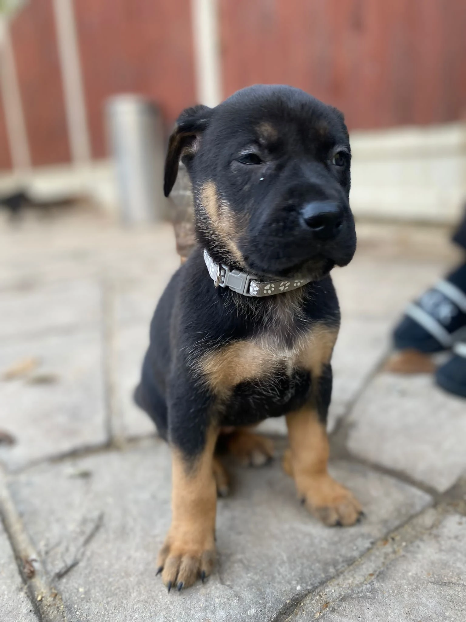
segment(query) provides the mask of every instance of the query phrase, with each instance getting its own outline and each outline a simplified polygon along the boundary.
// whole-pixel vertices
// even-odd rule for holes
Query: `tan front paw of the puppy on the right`
[[[309,512],[329,527],[354,525],[362,516],[355,496],[327,473],[314,476],[301,498]]]

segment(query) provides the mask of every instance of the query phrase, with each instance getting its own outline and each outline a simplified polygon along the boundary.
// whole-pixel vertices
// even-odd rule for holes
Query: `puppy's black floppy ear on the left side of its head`
[[[199,105],[186,108],[178,117],[175,129],[171,132],[168,141],[167,158],[165,159],[165,178],[163,180],[165,197],[168,197],[176,181],[180,157],[193,156],[197,151],[198,137],[209,125],[211,114],[212,108]]]

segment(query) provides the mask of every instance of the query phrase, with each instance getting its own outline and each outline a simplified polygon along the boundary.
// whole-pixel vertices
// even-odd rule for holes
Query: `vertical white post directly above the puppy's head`
[[[216,106],[222,100],[217,0],[191,0],[196,95],[199,103]]]

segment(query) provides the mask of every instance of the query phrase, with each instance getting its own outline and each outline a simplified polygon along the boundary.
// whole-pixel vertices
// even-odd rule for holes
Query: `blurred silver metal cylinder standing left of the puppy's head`
[[[169,204],[163,195],[165,142],[160,113],[140,96],[117,95],[107,101],[106,116],[122,220],[163,220]]]

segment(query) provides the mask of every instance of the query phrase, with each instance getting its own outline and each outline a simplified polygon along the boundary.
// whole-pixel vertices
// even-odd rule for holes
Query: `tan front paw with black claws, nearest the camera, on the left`
[[[172,587],[181,592],[183,588],[193,585],[198,577],[204,582],[214,567],[213,537],[211,542],[200,545],[184,540],[168,535],[157,557],[157,574],[162,572],[168,592]]]

